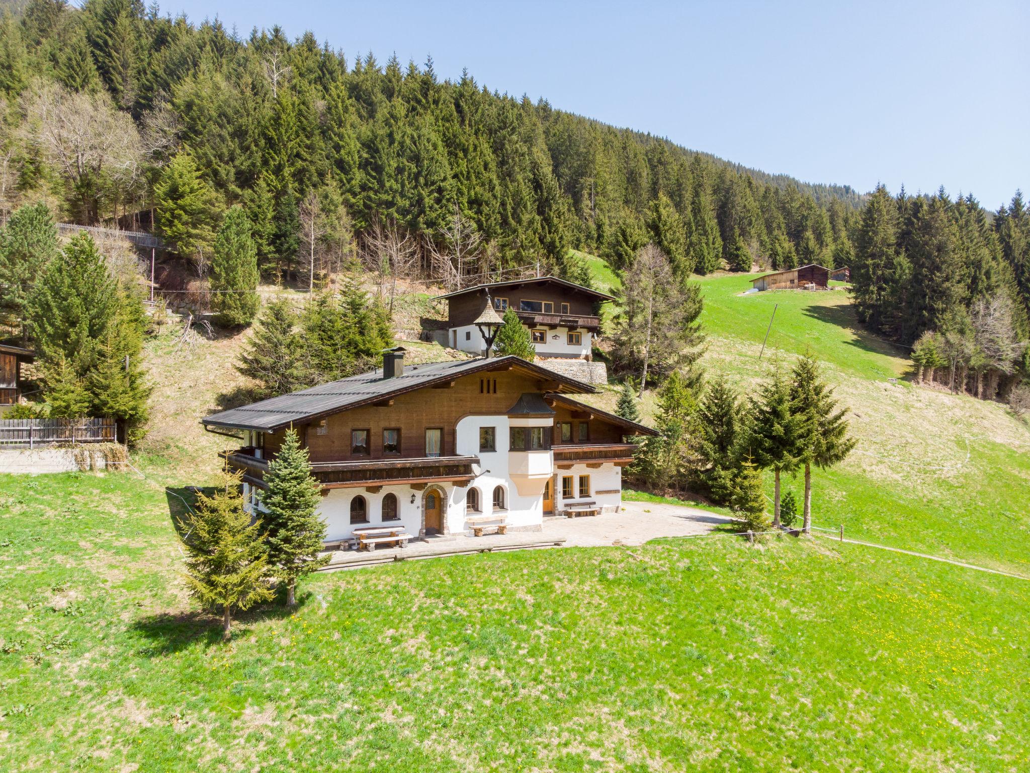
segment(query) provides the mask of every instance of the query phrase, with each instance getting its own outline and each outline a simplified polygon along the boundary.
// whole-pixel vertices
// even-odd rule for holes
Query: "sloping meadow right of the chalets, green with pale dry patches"
[[[755,275],[699,278],[702,365],[747,395],[772,363],[789,367],[810,349],[819,358],[859,444],[844,464],[815,471],[815,523],[1030,575],[1027,424],[997,403],[906,380],[907,351],[864,332],[845,290],[745,294]],[[612,407],[615,398],[609,391],[598,403]],[[653,413],[650,396],[644,409]],[[799,477],[786,485],[801,492]]]

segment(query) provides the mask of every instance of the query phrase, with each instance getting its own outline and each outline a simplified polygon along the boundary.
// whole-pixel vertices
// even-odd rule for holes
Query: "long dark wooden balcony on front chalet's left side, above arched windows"
[[[265,488],[268,461],[253,456],[252,448],[238,448],[220,455],[230,467],[243,472],[243,479]],[[472,466],[478,457],[432,457],[422,459],[377,459],[357,462],[315,462],[311,474],[322,489],[353,489],[451,482],[465,486],[476,477]]]

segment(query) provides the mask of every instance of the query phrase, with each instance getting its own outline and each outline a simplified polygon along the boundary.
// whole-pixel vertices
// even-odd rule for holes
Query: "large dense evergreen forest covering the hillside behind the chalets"
[[[528,266],[582,278],[570,247],[622,267],[649,242],[680,275],[840,264],[860,202],[468,73],[441,80],[432,60],[348,60],[278,28],[243,39],[139,0],[5,16],[0,96],[0,207],[44,198],[76,223],[152,225],[202,273],[237,204],[266,278],[371,251],[376,270],[461,281]]]

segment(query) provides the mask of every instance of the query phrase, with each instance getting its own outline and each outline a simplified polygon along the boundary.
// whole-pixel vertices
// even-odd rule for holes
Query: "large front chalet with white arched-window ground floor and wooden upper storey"
[[[579,504],[621,503],[626,435],[653,430],[581,403],[594,389],[515,357],[383,367],[203,419],[243,435],[224,453],[258,505],[269,460],[293,428],[321,484],[327,540],[403,526],[411,535],[464,533],[492,515],[510,530]]]

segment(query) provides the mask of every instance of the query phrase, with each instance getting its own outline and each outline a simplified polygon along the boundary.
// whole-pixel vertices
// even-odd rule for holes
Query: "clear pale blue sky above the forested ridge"
[[[167,0],[859,191],[1030,188],[1030,3]]]

